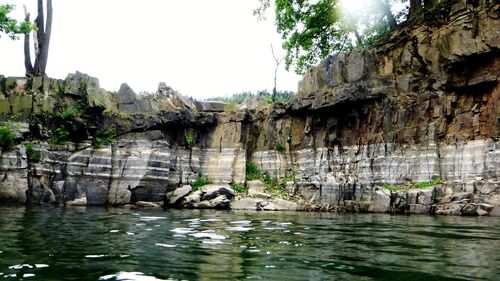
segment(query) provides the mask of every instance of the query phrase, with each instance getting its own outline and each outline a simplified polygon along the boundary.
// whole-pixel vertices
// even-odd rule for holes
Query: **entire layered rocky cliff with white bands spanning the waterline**
[[[112,93],[82,73],[0,77],[0,114],[18,143],[2,149],[0,201],[160,201],[200,176],[244,183],[252,162],[293,178],[303,206],[498,215],[494,2],[456,1],[375,48],[330,57],[285,105],[193,102],[162,83]],[[414,188],[422,182],[436,185]]]

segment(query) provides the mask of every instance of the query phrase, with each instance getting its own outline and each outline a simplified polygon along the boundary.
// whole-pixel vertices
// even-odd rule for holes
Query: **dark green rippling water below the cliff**
[[[5,280],[500,280],[500,220],[0,207]]]

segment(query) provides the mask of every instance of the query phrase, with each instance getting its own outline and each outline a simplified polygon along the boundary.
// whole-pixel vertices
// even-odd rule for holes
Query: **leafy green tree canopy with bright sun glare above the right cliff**
[[[371,0],[352,14],[339,0],[260,0],[254,15],[274,8],[275,25],[286,51],[285,65],[302,74],[330,54],[371,45],[421,11],[446,0]],[[399,11],[394,9],[399,5]]]

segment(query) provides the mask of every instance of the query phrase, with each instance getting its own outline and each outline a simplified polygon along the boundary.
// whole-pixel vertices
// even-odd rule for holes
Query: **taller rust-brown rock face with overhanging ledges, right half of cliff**
[[[446,25],[402,28],[310,69],[285,112],[257,119],[252,161],[328,206],[387,211],[384,185],[438,178],[450,183],[439,193],[498,206],[498,10],[458,1]]]

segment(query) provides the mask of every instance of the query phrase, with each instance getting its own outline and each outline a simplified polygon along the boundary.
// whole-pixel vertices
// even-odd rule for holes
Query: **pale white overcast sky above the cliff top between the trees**
[[[36,0],[6,0],[32,19]],[[76,70],[116,91],[127,82],[153,92],[158,82],[208,98],[272,89],[271,44],[283,55],[272,19],[258,22],[257,0],[53,0],[47,75]],[[22,39],[22,38],[21,38]],[[0,38],[0,74],[24,76],[23,40]],[[280,68],[278,89],[297,91],[300,77]]]

